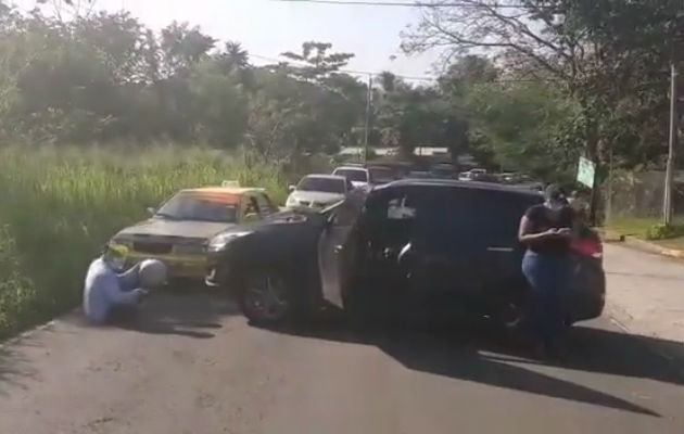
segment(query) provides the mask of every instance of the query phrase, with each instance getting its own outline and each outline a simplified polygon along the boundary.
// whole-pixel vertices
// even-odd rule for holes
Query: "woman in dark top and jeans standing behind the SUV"
[[[565,329],[565,292],[570,279],[570,241],[574,213],[555,184],[544,204],[530,207],[520,219],[518,239],[527,245],[522,272],[530,283],[530,326],[539,357],[560,352]]]

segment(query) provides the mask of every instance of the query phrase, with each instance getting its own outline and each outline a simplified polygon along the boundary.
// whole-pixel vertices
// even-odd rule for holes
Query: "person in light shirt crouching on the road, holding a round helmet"
[[[83,303],[84,312],[90,322],[102,324],[132,317],[140,301],[148,294],[148,289],[166,280],[166,269],[159,260],[137,264],[122,272],[127,253],[125,246],[107,244],[102,256],[90,264]]]

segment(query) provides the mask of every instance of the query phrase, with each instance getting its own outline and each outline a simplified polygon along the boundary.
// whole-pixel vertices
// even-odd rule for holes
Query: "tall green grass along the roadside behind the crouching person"
[[[76,305],[88,263],[147,207],[225,179],[284,199],[277,167],[213,150],[0,150],[0,337]]]

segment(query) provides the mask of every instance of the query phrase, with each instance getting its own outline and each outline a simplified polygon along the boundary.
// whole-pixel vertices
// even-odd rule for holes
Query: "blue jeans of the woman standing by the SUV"
[[[530,283],[529,314],[533,337],[553,345],[565,329],[570,261],[563,254],[528,251],[522,258],[522,273]]]

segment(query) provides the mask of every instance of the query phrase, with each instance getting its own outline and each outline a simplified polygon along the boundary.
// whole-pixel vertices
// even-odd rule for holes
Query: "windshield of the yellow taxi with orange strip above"
[[[199,220],[232,224],[237,220],[237,207],[221,197],[205,197],[192,193],[179,193],[166,202],[157,217],[174,220]]]

